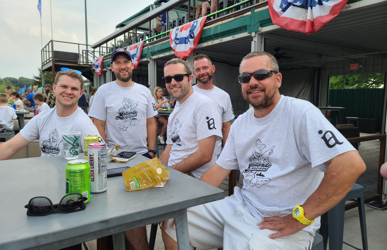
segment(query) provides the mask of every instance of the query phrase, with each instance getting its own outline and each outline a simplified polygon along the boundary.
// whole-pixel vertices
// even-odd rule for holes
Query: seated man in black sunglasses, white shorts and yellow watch
[[[200,180],[218,187],[239,169],[243,187],[188,209],[190,243],[201,249],[310,249],[320,215],[345,197],[365,164],[317,107],[279,94],[282,75],[271,54],[248,54],[240,73],[252,108],[235,120],[219,159]],[[171,221],[163,226],[166,249],[177,249]]]

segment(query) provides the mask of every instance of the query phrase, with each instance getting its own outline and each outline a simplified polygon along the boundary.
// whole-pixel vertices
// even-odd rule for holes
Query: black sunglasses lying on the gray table
[[[24,207],[28,216],[45,216],[56,213],[72,213],[84,210],[86,205],[80,193],[69,193],[60,200],[59,204],[53,205],[51,200],[44,196],[37,196],[29,200]]]

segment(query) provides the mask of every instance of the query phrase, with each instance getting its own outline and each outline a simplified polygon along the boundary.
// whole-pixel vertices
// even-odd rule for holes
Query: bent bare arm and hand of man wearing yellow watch
[[[365,171],[365,163],[356,151],[349,151],[330,159],[327,173],[325,173],[319,187],[302,204],[305,218],[312,220],[324,214],[339,203],[351,190],[357,178]],[[305,228],[293,218],[292,214],[284,217],[267,217],[258,223],[261,229],[277,230],[269,238],[291,235]]]

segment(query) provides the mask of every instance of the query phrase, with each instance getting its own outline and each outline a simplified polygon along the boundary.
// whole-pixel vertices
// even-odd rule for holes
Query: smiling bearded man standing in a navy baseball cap
[[[89,116],[108,148],[120,145],[150,159],[156,142],[156,104],[151,91],[132,81],[133,63],[127,50],[111,53],[111,71],[116,80],[103,84],[96,92]],[[133,247],[149,249],[145,226],[124,232]]]

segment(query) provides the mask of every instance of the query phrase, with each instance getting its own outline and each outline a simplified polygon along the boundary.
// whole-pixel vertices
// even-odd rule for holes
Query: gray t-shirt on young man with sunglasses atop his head
[[[81,132],[79,152],[83,152],[86,135],[98,135],[99,141],[102,141],[96,126],[79,107],[67,117],[58,116],[57,107],[39,113],[26,123],[20,134],[29,142],[39,139],[41,156],[54,156],[63,154],[62,132],[68,131]]]

